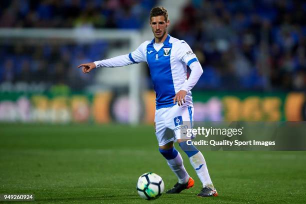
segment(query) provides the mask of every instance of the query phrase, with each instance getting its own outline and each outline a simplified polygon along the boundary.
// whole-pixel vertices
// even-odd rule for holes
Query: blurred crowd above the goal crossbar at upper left
[[[136,29],[143,25],[143,13],[153,4],[155,0],[12,0],[0,3],[0,27],[90,24],[94,27]],[[132,23],[132,17],[137,19],[136,22]]]

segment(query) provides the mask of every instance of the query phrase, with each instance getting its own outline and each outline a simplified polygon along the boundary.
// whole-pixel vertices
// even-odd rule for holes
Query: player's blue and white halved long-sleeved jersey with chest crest
[[[191,77],[193,69],[190,65],[195,61],[198,60],[185,41],[168,35],[163,44],[154,43],[154,39],[147,40],[128,55],[95,61],[94,63],[97,67],[113,67],[147,62],[156,92],[156,109],[159,109],[173,106],[173,97],[179,90],[187,91],[186,104],[193,106],[190,89],[202,73],[202,69],[197,62],[200,71],[193,73],[193,77]],[[186,65],[191,68],[189,83],[186,79]]]

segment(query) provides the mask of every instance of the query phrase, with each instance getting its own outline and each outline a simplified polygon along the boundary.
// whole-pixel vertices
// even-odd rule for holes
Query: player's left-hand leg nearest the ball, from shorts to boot
[[[165,112],[165,108],[158,109],[155,112],[155,134],[158,140],[159,152],[165,157],[167,164],[178,179],[177,184],[175,184],[177,189],[172,193],[178,193],[191,187],[191,184],[188,184],[190,176],[183,165],[180,153],[173,146],[173,130],[167,128],[164,124]],[[186,186],[184,186],[185,183],[187,183]]]

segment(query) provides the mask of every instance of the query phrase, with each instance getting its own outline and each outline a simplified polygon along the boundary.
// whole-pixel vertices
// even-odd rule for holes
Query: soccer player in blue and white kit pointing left
[[[153,7],[149,23],[154,34],[152,40],[144,41],[129,54],[80,64],[78,68],[82,67],[82,71],[88,73],[96,67],[124,66],[145,61],[156,92],[154,123],[159,151],[178,178],[178,182],[166,193],[179,193],[194,185],[180,153],[173,146],[173,141],[177,141],[202,182],[203,188],[197,196],[217,196],[202,153],[195,146],[188,145],[187,139],[181,136],[180,128],[177,128],[182,125],[182,121],[189,121],[189,128],[192,128],[193,104],[190,90],[202,74],[202,67],[185,41],[168,34],[170,21],[165,8]],[[186,65],[191,69],[188,79]]]

